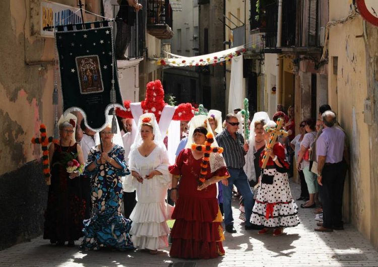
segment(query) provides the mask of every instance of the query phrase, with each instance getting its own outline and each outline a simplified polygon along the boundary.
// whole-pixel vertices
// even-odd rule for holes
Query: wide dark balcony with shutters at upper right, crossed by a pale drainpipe
[[[277,47],[278,4],[265,7],[266,12],[266,53],[318,54],[321,52],[319,1],[282,1],[282,37]],[[298,5],[297,5],[298,3]]]

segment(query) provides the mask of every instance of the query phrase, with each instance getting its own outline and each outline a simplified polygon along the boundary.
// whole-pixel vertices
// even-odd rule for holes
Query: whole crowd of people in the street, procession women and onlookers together
[[[299,224],[289,186],[295,171],[301,183],[296,201],[303,201],[302,209],[318,207],[314,213],[322,219],[314,230],[342,230],[349,157],[331,107],[322,105],[318,120],[303,120],[298,135],[293,107],[286,114],[279,105],[273,120],[256,112],[244,123],[240,114],[235,110],[223,121],[220,111],[210,110],[181,121],[174,163],[153,113],[138,121],[118,116],[117,133],[111,124],[95,133],[84,119],[79,126],[73,114],[61,116],[60,139],[49,147],[43,237],[69,246],[83,238],[83,250],[137,248],[150,254],[167,247],[169,237],[171,257],[215,258],[225,253],[223,227],[236,233],[232,197],[240,197],[245,230],[279,236]],[[75,134],[78,129],[82,135]]]

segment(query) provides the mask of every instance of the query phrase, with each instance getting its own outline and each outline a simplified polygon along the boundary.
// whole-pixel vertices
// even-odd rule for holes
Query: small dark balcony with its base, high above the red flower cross
[[[158,39],[171,39],[172,7],[169,0],[149,0],[147,3],[147,33]]]

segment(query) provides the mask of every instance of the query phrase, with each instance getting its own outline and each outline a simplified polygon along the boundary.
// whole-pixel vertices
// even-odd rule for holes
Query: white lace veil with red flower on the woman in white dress
[[[143,121],[143,120],[145,120],[145,121]],[[147,121],[147,120],[149,120],[149,121]],[[159,128],[159,125],[156,121],[155,115],[153,113],[144,113],[143,115],[141,115],[139,117],[136,137],[135,137],[134,144],[130,148],[130,153],[132,153],[132,151],[134,149],[139,148],[143,143],[142,136],[141,136],[141,128],[142,128],[143,122],[150,123],[152,125],[152,127],[154,128],[153,131],[152,131],[152,133],[154,135],[154,143],[158,147],[167,150],[165,145],[164,145],[163,138],[161,137],[160,128]]]

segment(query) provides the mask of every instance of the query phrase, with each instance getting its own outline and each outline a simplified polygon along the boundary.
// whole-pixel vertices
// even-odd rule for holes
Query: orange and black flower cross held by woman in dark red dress
[[[199,186],[202,185],[206,181],[207,166],[209,165],[209,161],[210,161],[210,153],[221,154],[223,152],[223,148],[212,147],[211,144],[213,143],[214,143],[214,136],[211,132],[209,132],[206,135],[206,141],[204,145],[192,144],[193,150],[196,149],[198,151],[204,152],[204,157],[202,158],[202,162],[201,162],[200,177],[198,178]]]

